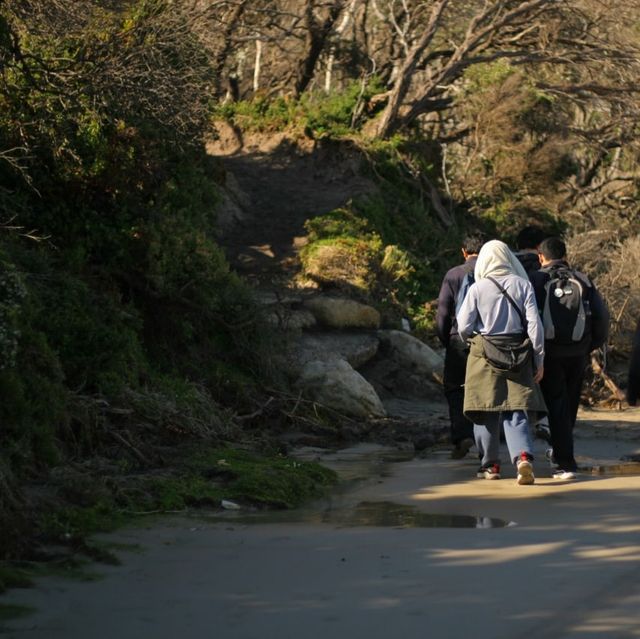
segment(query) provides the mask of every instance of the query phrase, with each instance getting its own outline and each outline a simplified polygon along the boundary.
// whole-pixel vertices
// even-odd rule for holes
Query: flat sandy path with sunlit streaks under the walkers
[[[606,466],[640,452],[640,411],[583,415],[577,450]],[[542,456],[543,442],[537,442]],[[5,603],[38,612],[11,639],[640,637],[640,476],[474,478],[446,452],[395,463],[299,523],[164,520],[95,583],[45,579]],[[350,526],[362,502],[473,515],[500,528]],[[322,523],[322,520],[325,523]],[[410,518],[405,521],[410,523]]]

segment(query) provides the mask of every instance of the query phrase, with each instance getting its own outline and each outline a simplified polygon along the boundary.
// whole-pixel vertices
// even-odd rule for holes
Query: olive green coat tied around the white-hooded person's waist
[[[464,382],[464,414],[474,424],[484,424],[486,413],[523,410],[530,423],[547,412],[542,391],[533,381],[533,365],[517,373],[497,373],[482,354],[482,337],[471,339]]]

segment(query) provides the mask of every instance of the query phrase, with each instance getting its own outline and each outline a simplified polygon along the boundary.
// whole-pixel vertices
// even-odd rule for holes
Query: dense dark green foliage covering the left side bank
[[[7,478],[104,439],[87,397],[126,406],[136,391],[160,405],[197,386],[215,437],[222,399],[260,372],[255,309],[213,235],[220,169],[199,138],[206,60],[172,33],[167,3],[100,4],[86,3],[80,23],[55,4],[55,15],[37,3],[0,14]],[[145,84],[127,93],[138,66]]]

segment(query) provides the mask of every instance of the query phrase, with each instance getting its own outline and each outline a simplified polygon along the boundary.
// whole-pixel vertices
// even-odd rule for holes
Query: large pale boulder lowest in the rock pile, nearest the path
[[[343,360],[313,360],[302,370],[298,387],[311,399],[354,417],[384,417],[373,386]]]

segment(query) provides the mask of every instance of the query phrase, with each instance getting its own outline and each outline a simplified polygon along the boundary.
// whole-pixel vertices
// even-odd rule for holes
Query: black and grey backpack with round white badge
[[[567,266],[541,269],[549,274],[544,285],[542,324],[545,340],[555,344],[580,344],[591,331],[589,281],[579,278]]]

